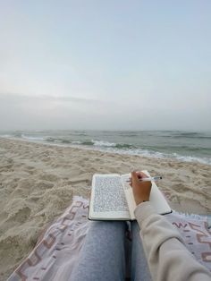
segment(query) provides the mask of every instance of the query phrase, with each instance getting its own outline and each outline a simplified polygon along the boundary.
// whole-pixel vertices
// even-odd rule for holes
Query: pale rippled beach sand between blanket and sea
[[[89,196],[94,173],[126,174],[131,166],[164,176],[159,186],[173,209],[211,213],[211,166],[0,139],[0,280],[30,253],[72,195]]]

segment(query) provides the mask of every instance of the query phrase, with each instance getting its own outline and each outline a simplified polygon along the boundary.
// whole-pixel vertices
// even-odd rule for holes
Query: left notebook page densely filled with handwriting
[[[90,218],[130,219],[120,175],[93,176],[89,209]]]

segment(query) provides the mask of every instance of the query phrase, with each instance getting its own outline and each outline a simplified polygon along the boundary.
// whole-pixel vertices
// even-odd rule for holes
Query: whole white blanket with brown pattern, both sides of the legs
[[[7,280],[70,280],[89,230],[88,210],[88,200],[74,197],[72,206],[46,230],[29,257]],[[165,217],[179,230],[196,259],[211,270],[211,230],[207,217],[175,211]]]

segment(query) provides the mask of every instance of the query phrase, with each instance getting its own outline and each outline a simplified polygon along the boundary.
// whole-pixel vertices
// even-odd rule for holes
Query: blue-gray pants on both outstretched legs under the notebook
[[[131,228],[131,242],[125,233]],[[126,262],[127,261],[127,262]],[[130,263],[131,280],[151,280],[136,221],[91,222],[72,281],[121,281]],[[128,272],[128,270],[127,270]],[[128,275],[128,274],[127,274]]]

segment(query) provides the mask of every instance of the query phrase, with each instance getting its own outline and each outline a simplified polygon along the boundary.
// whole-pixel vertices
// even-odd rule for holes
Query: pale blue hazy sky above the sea
[[[210,0],[0,0],[0,130],[211,131]]]

